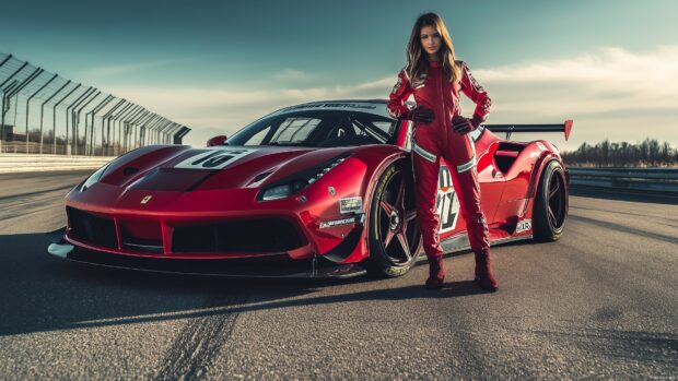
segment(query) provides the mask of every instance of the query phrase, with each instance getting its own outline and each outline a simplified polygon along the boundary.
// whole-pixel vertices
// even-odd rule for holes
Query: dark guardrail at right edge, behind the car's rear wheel
[[[676,168],[581,168],[569,167],[570,187],[678,195]]]

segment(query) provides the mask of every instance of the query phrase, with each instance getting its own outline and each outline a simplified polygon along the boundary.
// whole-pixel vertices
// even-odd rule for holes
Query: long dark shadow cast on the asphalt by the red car
[[[474,282],[441,291],[397,279],[253,279],[157,274],[49,255],[42,234],[0,236],[0,336],[370,300],[483,294]],[[369,284],[372,289],[365,290]],[[388,286],[390,288],[385,288]],[[334,288],[336,287],[336,288]],[[332,295],[323,293],[332,288]],[[360,288],[353,291],[353,288]]]

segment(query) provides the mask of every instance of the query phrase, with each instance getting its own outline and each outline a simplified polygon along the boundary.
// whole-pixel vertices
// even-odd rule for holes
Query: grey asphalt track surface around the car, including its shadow
[[[47,254],[85,176],[0,176],[0,379],[655,379],[678,376],[678,206],[571,198],[558,242],[395,279],[254,281]]]

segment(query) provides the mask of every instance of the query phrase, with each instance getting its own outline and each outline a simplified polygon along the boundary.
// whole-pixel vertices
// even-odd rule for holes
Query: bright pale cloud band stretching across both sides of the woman
[[[574,119],[571,142],[546,138],[561,147],[582,142],[639,141],[645,136],[678,144],[678,46],[646,52],[601,48],[591,53],[549,61],[527,61],[475,68],[474,75],[493,100],[490,123],[561,122]],[[285,69],[282,80],[309,78]],[[284,82],[267,88],[112,88],[113,93],[194,128],[187,142],[203,144],[203,133],[232,134],[278,108],[322,99],[385,98],[395,74],[354,84],[301,88]],[[464,114],[474,105],[463,100]],[[208,130],[209,129],[209,130]],[[195,136],[195,140],[194,138]]]

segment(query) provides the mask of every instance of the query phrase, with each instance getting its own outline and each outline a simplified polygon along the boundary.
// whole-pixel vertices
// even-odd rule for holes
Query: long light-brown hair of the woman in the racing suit
[[[449,78],[449,82],[459,82],[461,79],[461,68],[456,62],[454,53],[454,45],[452,44],[452,37],[443,23],[443,20],[435,13],[424,13],[417,19],[410,40],[407,44],[407,74],[410,76],[412,83],[423,82],[424,73],[428,68],[426,55],[423,51],[421,45],[421,28],[424,26],[432,26],[441,34],[441,49],[439,55],[443,64],[443,70]]]

